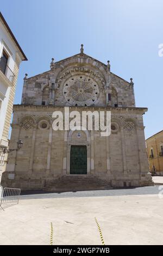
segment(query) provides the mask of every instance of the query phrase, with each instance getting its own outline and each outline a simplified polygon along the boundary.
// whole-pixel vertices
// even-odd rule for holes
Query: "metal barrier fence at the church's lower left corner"
[[[0,198],[1,208],[3,209],[2,204],[6,203],[18,204],[20,193],[20,188],[5,187],[3,190],[2,197]]]

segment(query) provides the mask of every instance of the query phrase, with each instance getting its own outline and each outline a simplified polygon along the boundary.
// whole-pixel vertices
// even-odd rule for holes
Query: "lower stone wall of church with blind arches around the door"
[[[72,107],[71,111],[77,109]],[[78,110],[82,112],[83,109]],[[83,144],[87,145],[90,174],[111,181],[112,186],[149,184],[151,181],[147,176],[148,162],[143,138],[144,110],[129,108],[126,112],[122,108],[97,109],[111,111],[111,125],[115,126],[111,135],[100,137],[99,131],[93,131],[89,132],[90,138],[83,137],[80,141],[74,132],[71,142],[68,141],[68,131],[65,139],[65,131],[52,129],[53,111],[64,112],[64,107],[15,106],[10,147],[15,147],[15,142],[22,139],[23,148],[10,153],[2,183],[18,186],[21,182],[22,189],[43,188],[45,180],[68,174],[68,148],[71,144]],[[43,129],[41,125],[46,122],[48,125]]]

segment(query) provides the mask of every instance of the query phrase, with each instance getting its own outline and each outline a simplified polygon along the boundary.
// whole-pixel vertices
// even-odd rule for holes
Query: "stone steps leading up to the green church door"
[[[43,188],[48,192],[68,192],[87,190],[109,190],[112,187],[105,180],[101,180],[93,175],[63,175],[55,180],[46,181]]]

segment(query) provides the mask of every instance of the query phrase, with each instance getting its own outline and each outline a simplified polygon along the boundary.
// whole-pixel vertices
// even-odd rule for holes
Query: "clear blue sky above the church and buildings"
[[[137,107],[146,138],[163,129],[162,0],[5,0],[1,12],[28,62],[21,64],[15,103],[21,102],[23,77],[49,70],[56,61],[84,52],[106,63],[129,81],[133,77]]]

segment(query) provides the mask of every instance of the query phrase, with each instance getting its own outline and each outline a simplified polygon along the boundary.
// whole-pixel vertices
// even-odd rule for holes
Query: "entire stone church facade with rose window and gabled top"
[[[24,77],[21,105],[14,106],[10,148],[2,185],[22,190],[78,190],[152,185],[142,115],[134,83],[110,71],[110,63],[83,52]],[[54,131],[54,111],[111,111],[111,135],[100,131]],[[64,188],[64,185],[66,186]],[[58,186],[58,187],[57,187]],[[62,187],[63,186],[63,187]],[[94,186],[94,187],[93,187]]]

